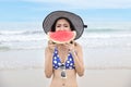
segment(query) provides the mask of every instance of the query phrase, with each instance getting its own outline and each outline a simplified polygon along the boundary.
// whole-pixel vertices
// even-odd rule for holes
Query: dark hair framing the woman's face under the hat
[[[55,23],[52,24],[52,26],[51,26],[51,32],[56,32],[56,24],[57,24],[57,22],[58,22],[59,20],[61,20],[61,18],[64,18],[66,21],[68,21],[68,23],[70,24],[70,27],[71,27],[71,30],[75,30],[73,24],[71,23],[71,21],[70,21],[69,18],[67,18],[67,17],[58,17],[58,18],[55,21]]]

